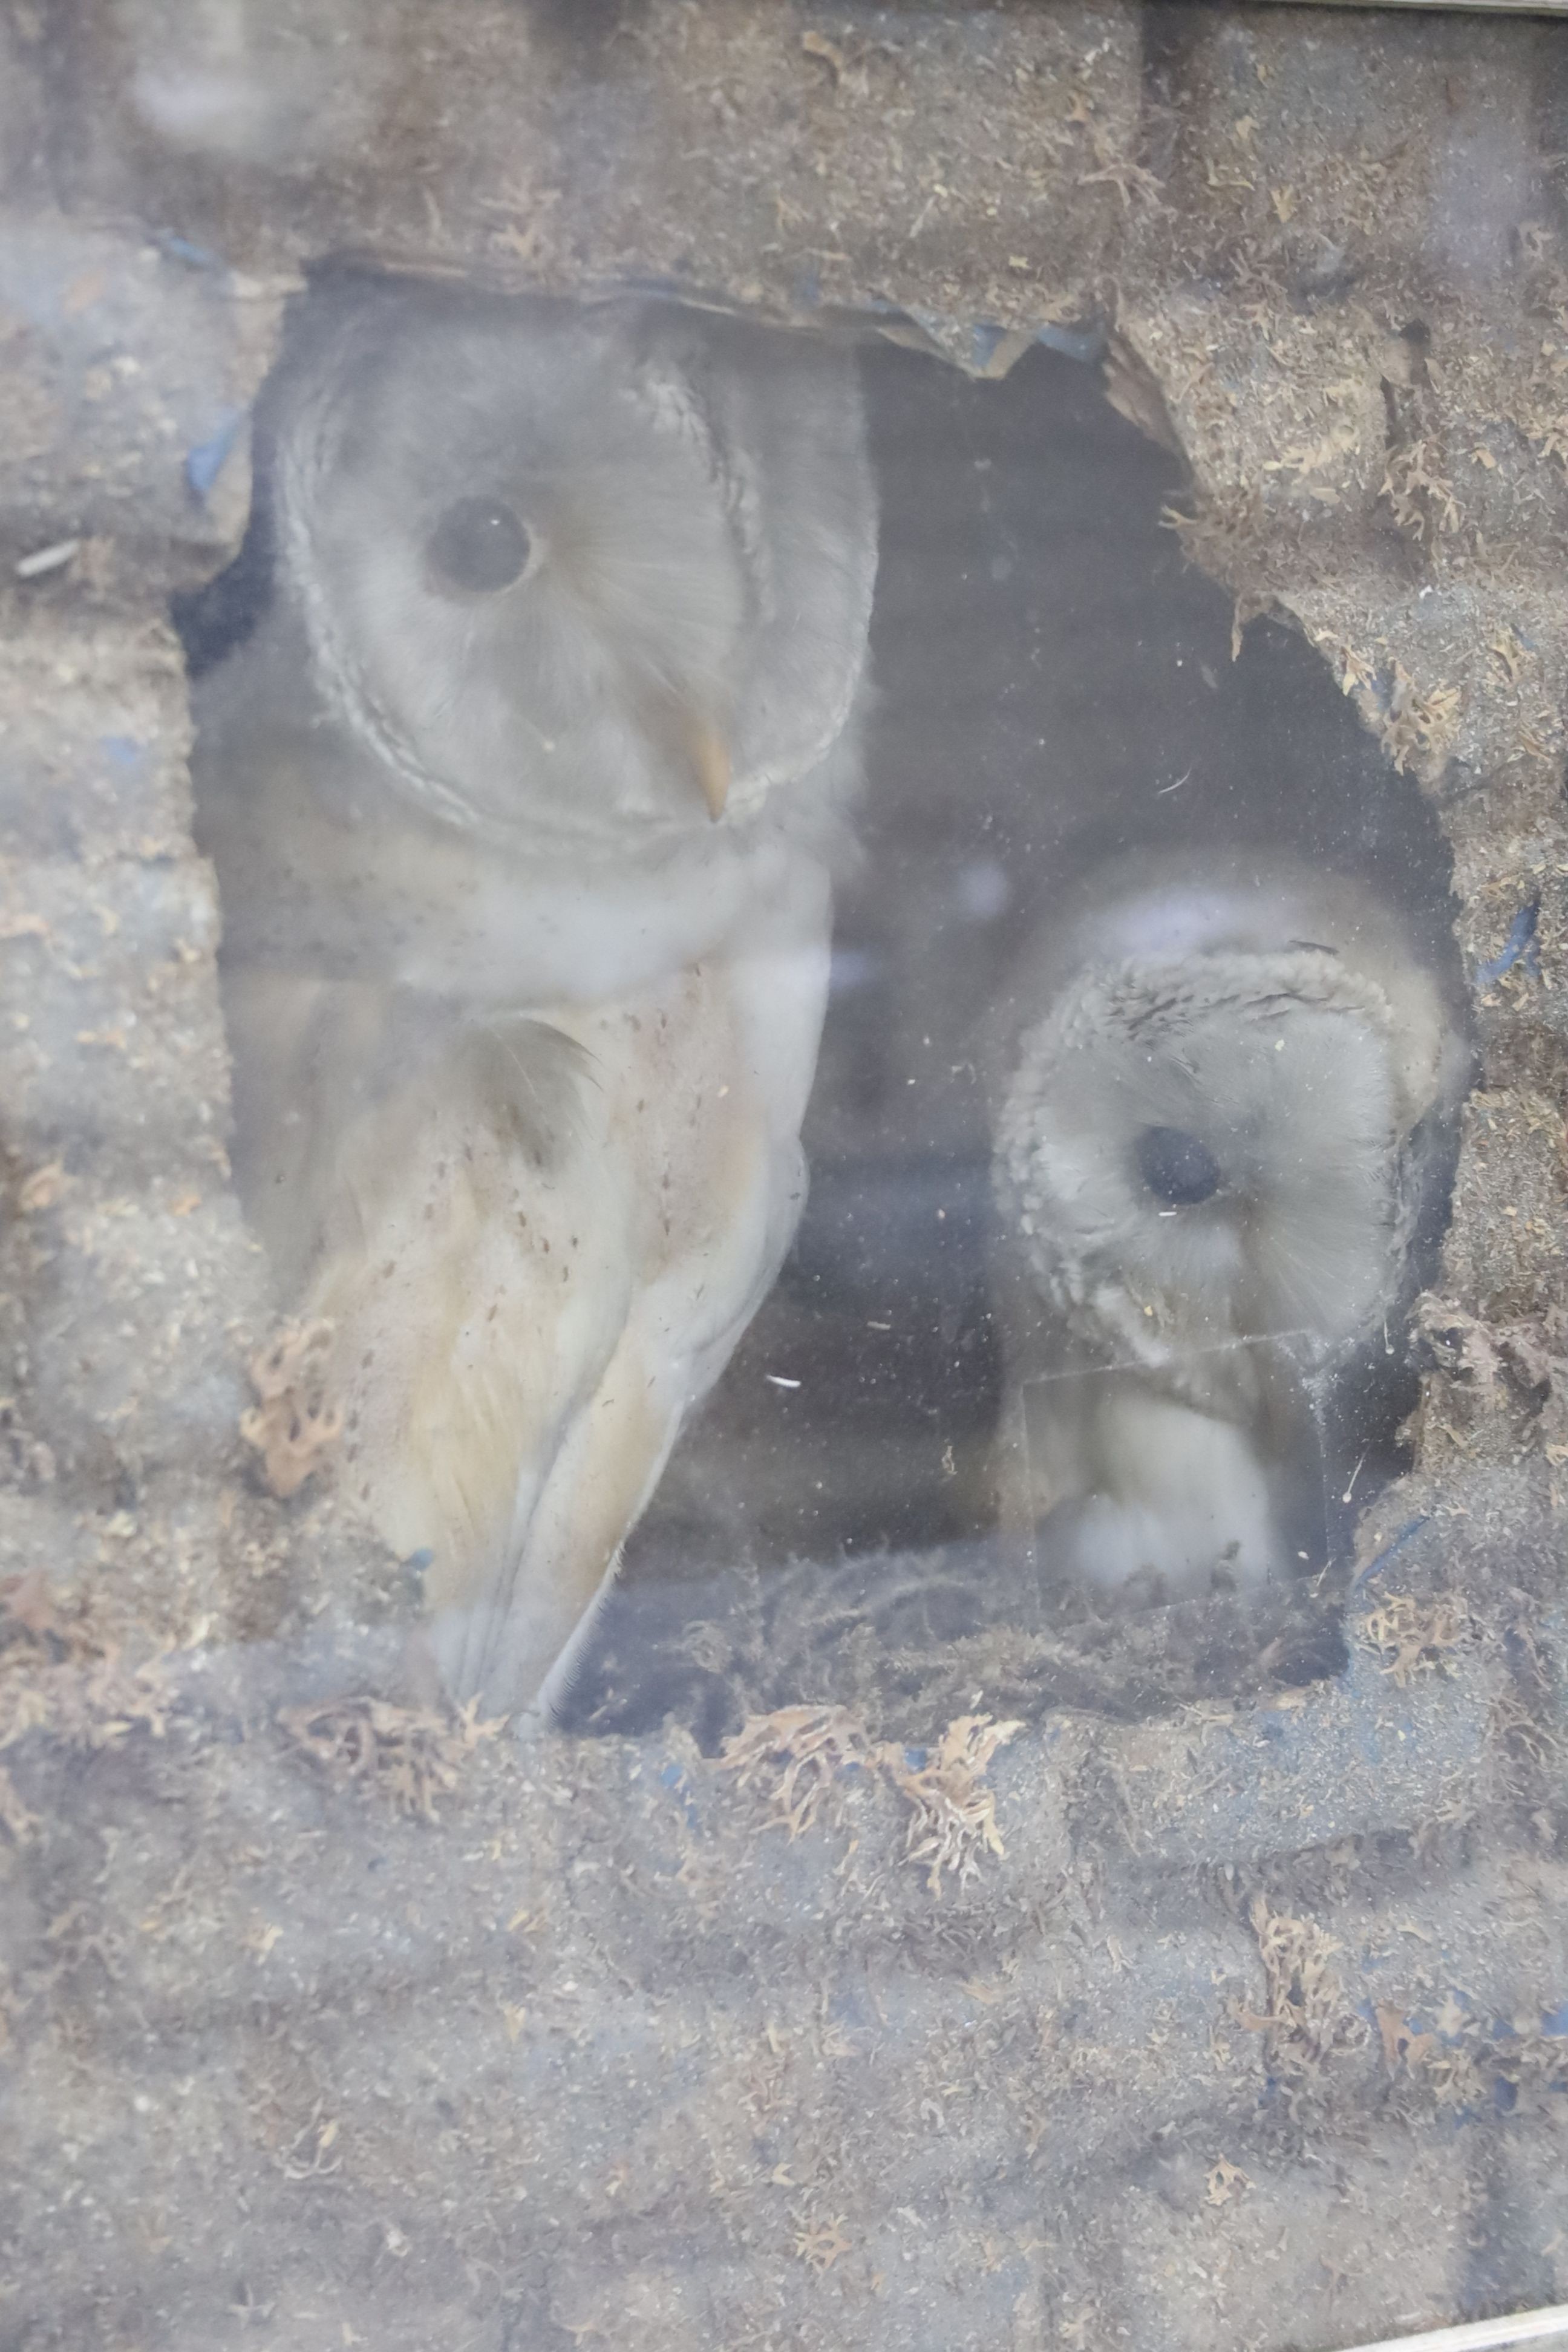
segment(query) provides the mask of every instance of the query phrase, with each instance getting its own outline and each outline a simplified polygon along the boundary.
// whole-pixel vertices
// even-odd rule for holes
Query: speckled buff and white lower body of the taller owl
[[[804,1197],[804,1094],[776,1063],[809,1065],[813,967],[792,1004],[771,990],[773,1065],[712,964],[461,1030],[320,1169],[303,1308],[334,1327],[343,1482],[423,1564],[458,1698],[541,1703],[773,1282]]]

